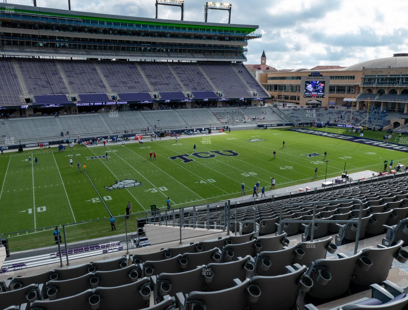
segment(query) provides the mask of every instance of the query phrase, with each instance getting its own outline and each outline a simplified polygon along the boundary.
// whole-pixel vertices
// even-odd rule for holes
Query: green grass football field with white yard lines
[[[348,130],[344,129],[328,130],[348,134]],[[375,139],[383,136],[381,132],[366,130],[364,133],[365,137]],[[251,139],[265,141],[250,142]],[[324,179],[326,165],[323,156],[308,158],[303,154],[327,151],[327,159],[330,159],[328,176],[339,176],[345,162],[349,173],[380,171],[384,159],[408,164],[408,154],[404,152],[281,129],[199,135],[178,139],[178,143],[174,139],[147,140],[143,146],[138,143],[129,143],[125,147],[120,143],[106,147],[76,145],[67,147],[62,153],[56,148],[49,148],[0,156],[0,233],[106,218],[102,224],[98,223],[98,230],[93,229],[95,224],[72,228],[71,241],[80,240],[93,235],[109,235],[108,209],[114,216],[123,215],[128,201],[133,205],[132,212],[148,210],[151,204],[165,208],[167,197],[170,197],[172,207],[186,207],[240,196],[241,182],[245,183],[249,194],[257,181],[269,190],[271,176],[276,179],[276,188]],[[283,140],[286,142],[284,149]],[[239,155],[190,156],[188,158],[194,161],[189,163],[169,159],[180,154],[191,155],[194,144],[197,145],[196,152],[233,150]],[[273,150],[277,152],[275,159]],[[148,160],[150,151],[156,152],[156,161]],[[105,152],[108,152],[109,160],[87,159],[104,156]],[[29,156],[37,157],[38,165],[30,166]],[[71,156],[74,156],[73,168],[69,166]],[[82,169],[78,172],[76,158],[81,164],[86,164],[87,175]],[[320,170],[318,178],[314,178],[315,167]],[[111,191],[105,188],[125,179],[137,180],[142,186]],[[118,232],[124,230],[120,222],[117,226]],[[135,230],[136,225],[128,229]],[[48,229],[11,235],[10,244],[13,237],[14,240],[20,237],[21,245],[15,245],[14,249],[39,247],[48,242],[53,244],[52,233]]]

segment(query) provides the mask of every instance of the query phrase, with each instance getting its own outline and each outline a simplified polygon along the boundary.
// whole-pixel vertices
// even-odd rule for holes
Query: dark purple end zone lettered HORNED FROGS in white
[[[384,143],[378,140],[361,138],[357,136],[349,136],[347,134],[335,134],[332,132],[323,132],[323,131],[303,129],[303,128],[293,128],[293,129],[287,129],[287,130],[294,131],[294,132],[302,132],[304,134],[314,134],[315,136],[325,136],[325,137],[334,138],[334,139],[341,139],[341,140],[346,140],[346,141],[351,141],[351,142],[356,142],[356,143],[374,145],[378,147],[384,147],[385,149],[389,149],[389,150],[397,150],[397,151],[408,153],[408,144],[404,146],[404,145],[397,144],[397,143]],[[406,141],[405,138],[401,138],[401,139],[404,139],[402,140],[404,142]]]

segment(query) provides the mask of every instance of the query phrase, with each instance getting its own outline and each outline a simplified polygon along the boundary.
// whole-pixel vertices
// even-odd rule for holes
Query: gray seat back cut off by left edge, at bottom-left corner
[[[0,309],[42,300],[42,286],[43,284],[29,284],[17,290],[0,293]]]

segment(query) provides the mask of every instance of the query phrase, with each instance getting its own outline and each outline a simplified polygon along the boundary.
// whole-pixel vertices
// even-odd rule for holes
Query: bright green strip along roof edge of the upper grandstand
[[[0,9],[5,10],[5,8],[0,7]],[[182,28],[202,28],[202,29],[218,29],[218,30],[235,30],[235,31],[242,31],[246,33],[251,33],[256,30],[256,28],[237,28],[237,27],[228,27],[228,26],[202,26],[202,25],[194,25],[194,24],[176,24],[176,23],[165,23],[165,22],[146,22],[146,21],[138,21],[138,20],[125,20],[125,19],[115,19],[115,18],[98,18],[93,16],[80,16],[80,15],[66,15],[66,14],[57,14],[57,13],[47,13],[47,12],[33,12],[33,11],[25,11],[25,10],[13,10],[15,12],[21,13],[29,13],[29,14],[40,14],[40,15],[53,15],[53,16],[62,16],[62,17],[70,17],[70,18],[81,18],[83,20],[100,20],[104,22],[124,22],[129,24],[148,24],[148,25],[157,25],[157,26],[172,26],[172,27],[182,27]]]

